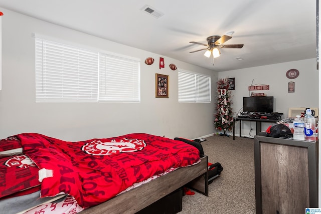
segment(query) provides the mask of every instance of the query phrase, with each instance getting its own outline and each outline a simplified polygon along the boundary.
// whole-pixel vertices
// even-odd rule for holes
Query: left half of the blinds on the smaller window
[[[195,74],[179,71],[179,102],[195,102]]]

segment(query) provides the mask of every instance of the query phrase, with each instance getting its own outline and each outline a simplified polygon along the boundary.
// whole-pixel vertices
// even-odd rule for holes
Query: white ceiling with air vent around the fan
[[[0,7],[214,71],[316,58],[312,0],[0,0]],[[221,49],[214,66],[205,51],[189,53],[204,48],[189,42],[230,31],[225,44],[244,47]]]

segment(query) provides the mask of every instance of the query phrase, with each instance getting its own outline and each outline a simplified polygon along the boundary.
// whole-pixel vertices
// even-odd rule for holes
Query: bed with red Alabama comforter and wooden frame
[[[69,213],[85,214],[135,213],[184,185],[208,195],[207,156],[184,142],[150,134],[69,142],[23,133],[0,141],[0,157],[7,168],[28,170],[11,172],[19,178],[12,180],[3,166],[0,205],[40,192],[53,202],[39,206],[39,213],[47,213],[42,207],[55,210],[56,197],[63,197],[63,205],[76,204]],[[29,208],[19,207],[22,213]]]

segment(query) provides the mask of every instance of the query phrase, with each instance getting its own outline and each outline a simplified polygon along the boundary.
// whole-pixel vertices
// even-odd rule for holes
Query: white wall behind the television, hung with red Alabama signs
[[[286,72],[289,69],[297,69],[299,76],[288,79]],[[235,88],[232,90],[232,108],[234,115],[241,110],[243,97],[250,96],[248,86],[252,84],[269,85],[269,90],[251,91],[254,93],[266,93],[274,97],[274,112],[283,113],[282,119],[288,118],[288,108],[310,107],[318,108],[318,71],[316,70],[316,58],[274,65],[239,69],[219,73],[219,79],[235,77]],[[288,93],[288,82],[295,83],[295,92]],[[235,133],[239,136],[239,123],[236,123]],[[272,123],[262,123],[262,130]],[[255,122],[242,121],[242,136],[249,136],[250,128],[253,128],[251,136],[256,133]],[[250,137],[251,137],[250,136]]]

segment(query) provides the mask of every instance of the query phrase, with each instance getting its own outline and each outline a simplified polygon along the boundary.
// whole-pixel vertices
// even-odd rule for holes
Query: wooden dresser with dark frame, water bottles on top
[[[254,136],[256,213],[318,207],[317,143]]]

